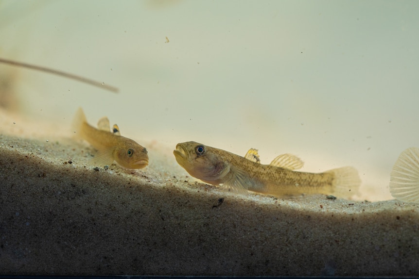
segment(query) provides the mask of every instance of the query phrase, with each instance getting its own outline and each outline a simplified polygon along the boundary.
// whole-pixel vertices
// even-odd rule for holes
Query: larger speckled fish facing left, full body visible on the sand
[[[332,169],[323,173],[294,171],[303,163],[294,155],[283,154],[271,164],[260,164],[256,149],[245,157],[212,148],[196,142],[176,145],[176,161],[190,175],[212,185],[221,185],[225,191],[256,193],[273,196],[297,194],[327,194],[351,197],[361,183],[353,167]]]

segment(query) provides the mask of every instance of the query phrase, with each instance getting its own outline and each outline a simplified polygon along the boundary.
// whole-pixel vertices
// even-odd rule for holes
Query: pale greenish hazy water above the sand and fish
[[[262,164],[292,153],[310,172],[351,165],[363,181],[359,198],[390,199],[394,162],[419,147],[418,8],[414,0],[0,1],[0,57],[120,92],[6,65],[0,75],[15,77],[17,110],[40,121],[70,127],[81,106],[89,123],[106,115],[140,144],[196,141],[242,156],[257,148]]]

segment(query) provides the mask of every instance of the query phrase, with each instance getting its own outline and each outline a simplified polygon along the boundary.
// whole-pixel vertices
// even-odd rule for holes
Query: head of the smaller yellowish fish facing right
[[[133,140],[126,139],[124,144],[115,148],[115,161],[123,167],[134,169],[148,165],[148,151]]]

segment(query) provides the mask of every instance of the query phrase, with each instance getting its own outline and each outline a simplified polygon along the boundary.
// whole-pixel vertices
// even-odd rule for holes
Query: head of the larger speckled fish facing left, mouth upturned
[[[218,185],[226,180],[230,164],[217,150],[191,141],[177,144],[173,154],[177,163],[194,178]]]

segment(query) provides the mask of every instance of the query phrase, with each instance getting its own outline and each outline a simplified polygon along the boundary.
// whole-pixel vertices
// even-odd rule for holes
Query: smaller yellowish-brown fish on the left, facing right
[[[90,126],[82,108],[79,108],[74,116],[73,129],[76,135],[98,150],[92,160],[94,164],[104,166],[116,161],[121,166],[130,169],[143,168],[148,165],[146,148],[132,139],[121,136],[117,125],[113,126],[112,131],[109,127],[107,117],[99,120],[99,129]]]

